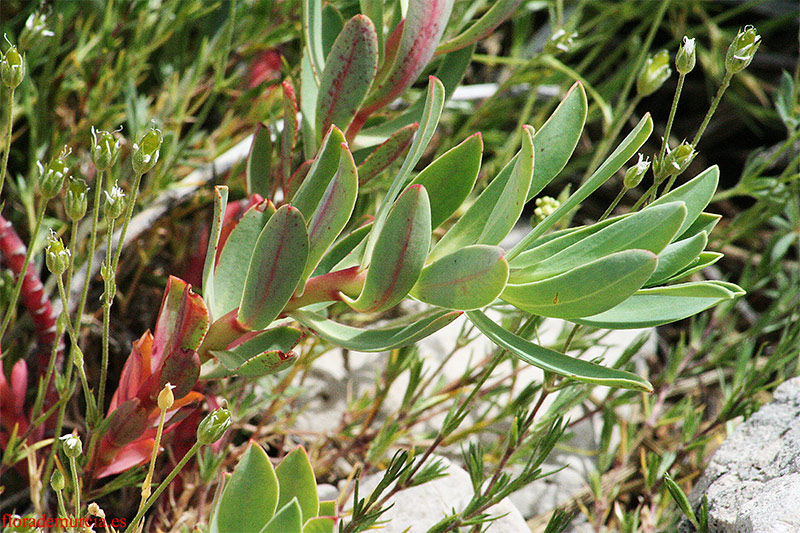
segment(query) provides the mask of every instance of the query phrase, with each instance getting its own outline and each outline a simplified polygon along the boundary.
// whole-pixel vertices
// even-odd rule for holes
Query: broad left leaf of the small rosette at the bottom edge
[[[261,446],[250,441],[222,489],[212,512],[210,532],[259,531],[270,521],[277,505],[275,470]],[[243,509],[247,512],[242,512]]]

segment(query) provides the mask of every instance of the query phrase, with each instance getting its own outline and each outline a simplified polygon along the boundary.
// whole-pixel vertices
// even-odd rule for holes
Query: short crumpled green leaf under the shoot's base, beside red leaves
[[[303,332],[288,326],[260,331],[250,337],[243,337],[239,344],[232,344],[226,350],[212,350],[211,355],[222,363],[213,371],[204,374],[204,379],[217,379],[233,375],[244,375],[260,371],[259,376],[272,374],[288,364],[296,357],[290,350],[294,348]],[[289,355],[291,354],[291,355]],[[256,361],[255,358],[258,358]]]

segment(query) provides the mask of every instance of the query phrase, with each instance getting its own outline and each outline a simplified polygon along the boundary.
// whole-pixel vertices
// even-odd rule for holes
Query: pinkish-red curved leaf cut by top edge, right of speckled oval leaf
[[[452,8],[453,0],[409,0],[392,66],[367,96],[360,113],[383,107],[416,81],[433,57]]]

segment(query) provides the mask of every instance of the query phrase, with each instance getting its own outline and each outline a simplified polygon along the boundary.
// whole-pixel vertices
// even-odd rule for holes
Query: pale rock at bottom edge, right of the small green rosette
[[[383,515],[386,522],[375,529],[380,533],[422,533],[447,516],[452,509],[461,511],[472,498],[472,483],[469,474],[445,457],[438,457],[447,465],[447,476],[429,481],[417,487],[398,492],[389,500],[394,504]],[[362,495],[377,486],[382,473],[364,478],[359,485]],[[530,531],[525,519],[506,498],[487,511],[497,520],[485,530],[488,533],[524,533]]]

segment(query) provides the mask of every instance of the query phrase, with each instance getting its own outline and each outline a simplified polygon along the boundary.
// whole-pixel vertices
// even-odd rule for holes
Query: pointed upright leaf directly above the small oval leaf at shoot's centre
[[[471,244],[498,244],[517,222],[533,175],[533,129],[523,127],[522,149],[458,219],[428,257],[435,261]]]

